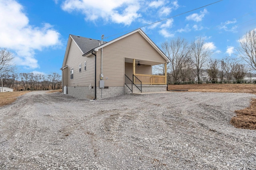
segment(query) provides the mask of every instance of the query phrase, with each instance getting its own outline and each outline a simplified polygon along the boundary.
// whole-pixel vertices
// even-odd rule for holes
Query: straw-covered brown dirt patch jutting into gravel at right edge
[[[236,110],[235,113],[236,116],[230,120],[234,127],[256,130],[256,99],[252,99],[250,107]]]

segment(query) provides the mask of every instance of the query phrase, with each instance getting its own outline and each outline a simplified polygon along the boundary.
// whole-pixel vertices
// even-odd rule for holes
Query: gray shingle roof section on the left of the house
[[[83,53],[86,53],[90,51],[91,49],[94,49],[96,47],[99,47],[101,44],[100,40],[96,39],[91,39],[91,38],[85,38],[85,37],[80,37],[77,35],[71,35],[70,36],[74,39],[76,44],[79,46],[79,48],[82,50]],[[103,44],[106,42],[103,41]]]

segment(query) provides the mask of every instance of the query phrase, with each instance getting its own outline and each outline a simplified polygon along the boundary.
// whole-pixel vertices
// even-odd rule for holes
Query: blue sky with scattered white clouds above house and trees
[[[238,39],[256,28],[256,1],[222,0],[200,8],[216,1],[0,0],[0,47],[13,53],[18,72],[61,74],[69,34],[92,39],[104,34],[110,41],[169,18],[142,27],[158,47],[176,37],[202,36],[212,58],[222,59],[234,56]]]

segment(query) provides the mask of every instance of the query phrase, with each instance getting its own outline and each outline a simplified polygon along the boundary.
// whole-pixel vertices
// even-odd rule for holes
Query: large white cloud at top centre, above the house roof
[[[86,20],[102,18],[125,25],[130,25],[141,16],[139,9],[140,3],[137,0],[65,0],[62,4],[62,10],[82,12]]]

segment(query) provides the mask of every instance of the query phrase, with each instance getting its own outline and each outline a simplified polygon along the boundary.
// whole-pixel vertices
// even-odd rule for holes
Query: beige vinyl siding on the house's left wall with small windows
[[[94,84],[94,55],[89,57],[83,57],[83,53],[80,51],[76,43],[71,40],[70,49],[66,60],[67,69],[67,85],[70,86],[89,86]],[[79,72],[79,64],[84,67],[84,61],[86,61],[86,70]],[[74,68],[74,78],[70,80],[70,68]]]

